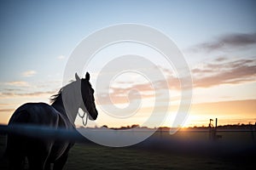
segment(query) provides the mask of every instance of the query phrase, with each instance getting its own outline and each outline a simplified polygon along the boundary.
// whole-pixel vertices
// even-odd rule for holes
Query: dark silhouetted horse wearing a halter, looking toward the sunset
[[[58,94],[51,96],[50,104],[26,103],[21,105],[9,120],[9,127],[15,125],[49,127],[55,130],[73,130],[74,121],[79,109],[87,113],[86,122],[96,120],[94,89],[90,84],[90,74],[79,78],[62,87]],[[65,97],[64,97],[65,95]],[[38,134],[40,135],[40,134]],[[74,142],[60,139],[38,139],[31,136],[8,134],[6,154],[9,157],[9,169],[23,169],[25,159],[31,170],[61,170],[69,150]]]

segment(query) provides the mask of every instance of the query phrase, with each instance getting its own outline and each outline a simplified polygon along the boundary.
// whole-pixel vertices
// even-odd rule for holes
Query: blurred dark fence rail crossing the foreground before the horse
[[[107,133],[104,129],[90,129],[90,133]],[[129,135],[140,135],[145,133],[145,130],[137,130],[129,132]],[[252,131],[242,130],[221,130],[220,133],[224,136],[232,136],[235,134],[236,139],[219,139],[212,141],[207,138],[207,130],[181,130],[174,135],[170,135],[169,131],[156,131],[152,136],[143,142],[136,144],[132,147],[146,150],[165,150],[174,153],[184,154],[201,154],[201,155],[232,155],[232,154],[244,154],[250,155],[256,153],[256,141],[250,139],[250,133]],[[253,132],[255,135],[255,131]],[[89,139],[85,139],[76,129],[53,129],[49,127],[38,127],[38,126],[22,126],[17,125],[9,127],[6,125],[0,125],[0,134],[16,134],[26,135],[31,138],[40,139],[62,139],[73,141],[77,143],[90,143]],[[128,134],[128,133],[127,133]],[[108,136],[108,135],[106,135]],[[111,138],[111,135],[109,135]],[[2,135],[3,137],[3,135]],[[131,136],[132,137],[132,136]]]

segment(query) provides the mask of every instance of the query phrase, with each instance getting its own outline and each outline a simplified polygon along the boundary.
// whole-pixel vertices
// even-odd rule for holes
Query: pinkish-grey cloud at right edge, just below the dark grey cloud
[[[256,81],[256,59],[207,63],[192,70],[195,88]]]

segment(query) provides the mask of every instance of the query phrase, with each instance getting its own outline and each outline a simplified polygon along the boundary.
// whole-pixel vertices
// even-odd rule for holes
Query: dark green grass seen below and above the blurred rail
[[[173,139],[189,140],[201,138],[207,140],[208,133],[177,133]],[[159,134],[154,134],[159,135]],[[164,134],[166,135],[166,134]],[[224,140],[249,139],[247,133],[225,133]],[[245,135],[245,136],[244,136]],[[244,136],[244,137],[243,137]],[[3,156],[6,138],[0,135],[0,156]],[[183,145],[179,145],[183,147]],[[200,146],[199,146],[200,147]],[[182,150],[183,148],[179,148]],[[118,169],[253,169],[256,167],[255,155],[252,156],[211,156],[189,152],[179,153],[172,150],[159,150],[140,147],[111,148],[93,143],[75,144],[69,152],[66,170],[118,170]],[[7,161],[0,160],[0,169],[7,169]]]

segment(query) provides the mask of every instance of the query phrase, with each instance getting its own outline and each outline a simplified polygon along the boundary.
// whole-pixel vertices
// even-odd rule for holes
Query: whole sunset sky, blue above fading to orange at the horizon
[[[49,97],[62,87],[67,61],[79,42],[102,28],[125,23],[163,32],[186,59],[193,78],[193,99],[184,127],[207,126],[215,117],[219,124],[254,123],[255,8],[255,1],[245,0],[1,1],[0,123],[8,123],[13,111],[26,102],[49,103]],[[165,73],[173,105],[161,126],[170,127],[180,101],[178,77],[172,66],[161,64],[152,48],[122,43],[103,49],[87,68],[92,86],[96,87],[99,71],[111,56],[135,52],[153,60]],[[97,126],[143,125],[150,116],[159,91],[154,91],[145,77],[134,73],[122,76],[105,93],[113,99],[112,105],[122,108],[129,104],[127,93],[135,88],[143,94],[141,110],[127,118],[109,116],[102,108],[111,105],[96,98]],[[96,97],[103,94],[96,91]],[[131,96],[131,102],[136,101]]]

